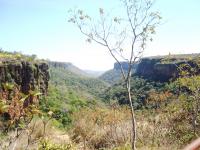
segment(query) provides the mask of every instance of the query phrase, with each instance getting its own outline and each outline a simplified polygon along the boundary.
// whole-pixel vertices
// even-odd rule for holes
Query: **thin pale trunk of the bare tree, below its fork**
[[[136,150],[136,119],[135,119],[135,113],[134,113],[132,97],[131,97],[130,77],[126,81],[126,89],[128,92],[128,99],[129,99],[130,109],[131,109],[131,121],[132,121],[132,133],[133,133],[131,145],[132,145],[132,150]]]

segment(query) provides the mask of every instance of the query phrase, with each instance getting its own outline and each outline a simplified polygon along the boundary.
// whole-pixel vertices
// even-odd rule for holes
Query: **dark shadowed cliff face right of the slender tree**
[[[167,82],[170,79],[176,79],[179,76],[179,66],[186,64],[194,68],[196,74],[200,73],[200,68],[198,67],[199,57],[190,59],[175,57],[169,59],[167,63],[163,62],[164,59],[164,57],[143,58],[137,66],[135,75],[153,81]]]

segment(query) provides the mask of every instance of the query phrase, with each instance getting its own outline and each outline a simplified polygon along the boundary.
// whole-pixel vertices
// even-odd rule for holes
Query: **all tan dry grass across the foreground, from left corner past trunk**
[[[168,120],[164,114],[145,110],[136,113],[138,150],[178,149],[174,143],[168,141],[169,130],[166,123]],[[30,124],[29,130],[23,131],[11,147],[16,146],[16,150],[24,149],[30,135],[28,149],[37,149],[41,139],[57,145],[76,143],[77,148],[73,149],[80,150],[131,149],[132,126],[127,107],[85,108],[74,113],[73,118],[72,129],[68,133],[55,129],[49,122],[45,137],[43,137],[43,121],[36,120]]]

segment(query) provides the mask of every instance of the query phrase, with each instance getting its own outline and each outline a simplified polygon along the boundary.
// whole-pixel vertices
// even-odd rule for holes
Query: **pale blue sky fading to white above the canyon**
[[[0,48],[71,62],[81,69],[105,71],[114,59],[98,44],[89,44],[72,24],[68,10],[90,14],[109,10],[118,0],[0,0]],[[200,53],[200,0],[156,0],[162,25],[144,56]]]

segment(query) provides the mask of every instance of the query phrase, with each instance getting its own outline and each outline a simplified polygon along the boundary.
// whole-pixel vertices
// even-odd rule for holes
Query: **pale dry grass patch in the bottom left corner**
[[[18,138],[14,138],[16,136],[16,132],[12,131],[3,139],[1,139],[0,149],[14,149],[14,150],[36,150],[38,149],[38,145],[41,140],[48,140],[53,144],[71,144],[71,140],[69,136],[54,128],[49,122],[46,127],[46,134],[44,136],[44,128],[43,121],[41,119],[37,119],[31,122],[29,127],[26,130],[20,131],[20,136]],[[9,142],[12,140],[12,144],[9,145]],[[8,146],[9,145],[9,146]],[[28,147],[27,147],[28,145]]]

